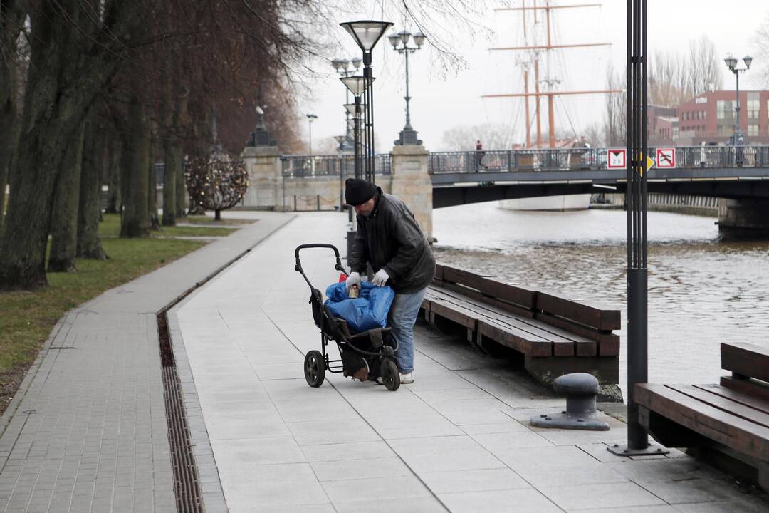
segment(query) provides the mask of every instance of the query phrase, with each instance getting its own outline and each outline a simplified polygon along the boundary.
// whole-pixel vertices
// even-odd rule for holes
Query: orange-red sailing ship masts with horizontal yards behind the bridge
[[[544,5],[537,6],[537,0],[533,0],[533,6],[527,7],[526,6],[526,0],[523,0],[521,7],[512,7],[512,8],[498,8],[494,9],[495,11],[522,11],[523,12],[523,21],[524,21],[524,46],[514,46],[514,47],[506,47],[506,48],[490,48],[494,51],[534,51],[534,93],[529,92],[528,88],[528,62],[524,63],[524,92],[523,93],[512,93],[512,94],[502,94],[502,95],[483,95],[481,98],[524,98],[525,102],[525,115],[526,115],[526,147],[531,148],[531,131],[529,128],[529,102],[528,98],[530,96],[534,96],[534,108],[537,116],[537,148],[542,147],[542,125],[541,125],[541,114],[540,114],[540,103],[539,98],[540,96],[547,96],[548,97],[548,146],[550,148],[555,148],[555,128],[554,128],[554,96],[555,95],[596,95],[596,94],[605,94],[605,93],[615,93],[615,92],[622,92],[621,89],[611,89],[611,90],[604,90],[604,91],[553,91],[552,84],[555,81],[550,76],[548,78],[545,78],[544,80],[539,79],[539,53],[540,51],[544,50],[545,52],[550,52],[554,48],[584,48],[589,46],[611,46],[611,43],[582,43],[578,45],[553,45],[551,42],[551,31],[550,31],[550,12],[553,9],[567,9],[567,8],[584,8],[584,7],[600,7],[601,4],[575,4],[575,5],[550,5],[550,0],[544,0]],[[545,25],[547,26],[547,39],[545,45],[528,45],[528,32],[527,32],[527,25],[526,25],[526,12],[532,11],[534,12],[534,25],[537,24],[537,13],[539,11],[544,11],[545,13]],[[536,33],[534,33],[534,36],[536,37]],[[549,62],[549,60],[548,60]],[[548,91],[547,92],[540,92],[539,84],[540,82],[547,82],[548,83]]]

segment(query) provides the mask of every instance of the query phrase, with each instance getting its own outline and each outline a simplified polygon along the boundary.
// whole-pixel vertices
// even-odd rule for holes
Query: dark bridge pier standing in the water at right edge
[[[724,239],[769,238],[769,199],[721,198],[718,233]]]

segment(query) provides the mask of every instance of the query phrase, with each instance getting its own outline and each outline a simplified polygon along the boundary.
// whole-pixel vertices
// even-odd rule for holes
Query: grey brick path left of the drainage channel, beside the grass
[[[0,511],[175,511],[155,314],[291,215],[68,311],[0,418]]]

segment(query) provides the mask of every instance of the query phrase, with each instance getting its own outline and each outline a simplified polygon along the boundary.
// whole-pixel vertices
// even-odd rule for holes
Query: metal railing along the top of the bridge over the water
[[[428,172],[566,171],[607,168],[607,148],[432,152]],[[655,158],[657,148],[649,148]],[[769,146],[675,148],[675,168],[766,167]]]

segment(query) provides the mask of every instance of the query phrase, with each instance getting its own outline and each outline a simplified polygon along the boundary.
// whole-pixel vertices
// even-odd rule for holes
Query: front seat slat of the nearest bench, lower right
[[[664,385],[635,385],[635,401],[711,440],[769,461],[769,428],[745,421]]]

